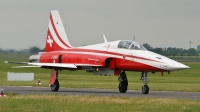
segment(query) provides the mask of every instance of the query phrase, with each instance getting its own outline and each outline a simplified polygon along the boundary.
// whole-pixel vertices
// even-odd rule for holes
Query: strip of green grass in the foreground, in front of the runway
[[[198,112],[200,100],[76,95],[11,95],[1,112]]]

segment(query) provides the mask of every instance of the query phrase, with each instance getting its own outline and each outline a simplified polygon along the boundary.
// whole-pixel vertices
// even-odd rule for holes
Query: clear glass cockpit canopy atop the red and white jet
[[[130,49],[130,50],[147,50],[144,46],[140,45],[138,42],[132,40],[122,40],[118,44],[118,48]]]

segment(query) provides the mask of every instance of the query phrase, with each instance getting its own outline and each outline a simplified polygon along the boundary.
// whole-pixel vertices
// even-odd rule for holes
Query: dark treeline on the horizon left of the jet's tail
[[[31,55],[31,54],[37,54],[38,52],[44,52],[44,49],[40,49],[39,47],[33,46],[28,49],[1,49],[0,48],[0,54],[25,54],[25,55]]]

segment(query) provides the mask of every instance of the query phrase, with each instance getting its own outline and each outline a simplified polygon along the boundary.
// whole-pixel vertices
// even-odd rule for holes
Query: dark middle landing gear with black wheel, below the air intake
[[[126,93],[128,88],[128,79],[126,77],[125,71],[122,71],[119,75],[119,91],[120,93]]]

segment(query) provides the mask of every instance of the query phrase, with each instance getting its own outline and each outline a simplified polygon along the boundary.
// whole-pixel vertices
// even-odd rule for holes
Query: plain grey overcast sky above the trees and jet
[[[58,10],[72,46],[132,40],[152,47],[200,45],[200,0],[1,0],[0,48],[44,48]]]

